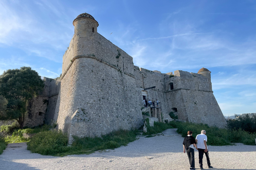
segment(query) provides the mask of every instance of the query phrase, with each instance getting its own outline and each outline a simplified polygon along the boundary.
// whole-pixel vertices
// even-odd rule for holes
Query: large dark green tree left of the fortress
[[[28,100],[36,97],[44,87],[43,80],[31,67],[9,69],[0,75],[0,95],[7,99],[6,113],[0,112],[0,120],[17,120],[24,126]]]

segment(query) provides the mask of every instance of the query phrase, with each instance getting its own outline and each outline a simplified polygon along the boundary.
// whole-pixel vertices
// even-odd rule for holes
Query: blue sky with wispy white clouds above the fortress
[[[0,74],[30,66],[58,77],[72,22],[86,12],[135,65],[162,73],[205,67],[224,116],[255,113],[255,6],[255,0],[1,0]]]

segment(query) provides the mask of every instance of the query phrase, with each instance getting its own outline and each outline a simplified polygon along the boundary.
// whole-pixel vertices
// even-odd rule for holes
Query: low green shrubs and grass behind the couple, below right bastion
[[[243,143],[245,145],[256,145],[255,138],[256,132],[250,133],[242,129],[224,129],[217,127],[209,127],[206,124],[195,124],[188,122],[175,122],[172,121],[169,125],[178,128],[177,132],[183,137],[187,135],[187,131],[193,131],[194,137],[201,133],[201,130],[206,130],[208,138],[207,144],[212,146],[231,145],[232,143]]]

